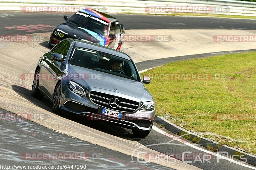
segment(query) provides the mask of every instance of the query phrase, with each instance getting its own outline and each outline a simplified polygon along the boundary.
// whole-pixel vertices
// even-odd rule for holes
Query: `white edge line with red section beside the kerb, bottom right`
[[[169,133],[167,133],[167,132],[165,132],[165,131],[159,129],[158,127],[156,127],[156,126],[154,126],[154,125],[153,125],[152,129],[155,130],[155,131],[157,131],[157,132],[160,133],[160,134],[163,134],[163,135],[165,135],[165,136],[168,136],[168,137],[172,138],[173,140],[177,140],[177,141],[179,141],[179,142],[181,142],[181,143],[183,143],[183,144],[185,144],[185,145],[188,145],[188,146],[190,146],[190,147],[192,147],[192,148],[194,148],[194,149],[197,149],[197,150],[200,150],[200,151],[203,151],[203,152],[212,154],[212,155],[214,155],[214,156],[216,156],[216,157],[219,157],[219,158],[221,158],[221,159],[226,159],[226,160],[228,160],[228,161],[230,161],[230,162],[232,162],[232,163],[235,163],[235,164],[238,164],[238,165],[241,165],[241,166],[244,166],[244,167],[247,167],[247,168],[251,168],[251,169],[255,169],[255,170],[256,170],[255,167],[252,167],[252,166],[249,166],[249,165],[245,165],[245,164],[244,164],[245,162],[244,162],[244,163],[241,163],[241,162],[238,162],[238,161],[236,161],[236,160],[226,158],[225,156],[222,156],[222,155],[220,155],[220,154],[217,154],[217,153],[214,153],[214,152],[211,152],[211,151],[202,149],[202,148],[200,148],[200,147],[198,147],[198,146],[195,146],[195,145],[192,145],[192,144],[190,144],[190,143],[188,143],[188,142],[186,142],[186,141],[182,142],[182,140],[179,140],[179,138],[181,138],[181,137],[178,137],[178,138],[177,138],[176,136],[173,136],[173,135],[171,135],[171,134],[169,134]],[[171,141],[172,141],[172,140],[171,140]],[[170,142],[171,142],[171,141],[170,141]],[[168,142],[168,143],[169,143],[169,142]]]

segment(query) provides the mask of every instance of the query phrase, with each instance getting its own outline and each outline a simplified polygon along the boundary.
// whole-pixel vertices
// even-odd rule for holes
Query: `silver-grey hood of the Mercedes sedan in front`
[[[138,98],[142,102],[153,100],[151,94],[139,81],[70,64],[66,68],[72,80],[81,84],[86,89],[92,87],[99,90],[104,89],[115,93],[122,93]]]

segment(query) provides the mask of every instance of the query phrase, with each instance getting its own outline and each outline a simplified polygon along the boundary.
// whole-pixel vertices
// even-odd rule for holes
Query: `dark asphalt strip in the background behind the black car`
[[[17,30],[17,28],[6,29],[5,27],[21,25],[50,25],[57,26],[64,23],[63,16],[71,13],[24,13],[0,11],[1,34],[13,35],[27,34],[30,32]],[[238,29],[255,30],[256,20],[252,19],[229,19],[229,18],[205,18],[205,17],[172,17],[154,15],[123,15],[112,14],[118,18],[124,28],[129,29]],[[49,28],[48,32],[52,31]],[[45,32],[44,30],[37,32]]]

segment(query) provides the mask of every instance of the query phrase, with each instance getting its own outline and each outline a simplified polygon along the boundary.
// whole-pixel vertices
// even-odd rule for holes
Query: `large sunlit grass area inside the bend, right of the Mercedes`
[[[255,56],[251,52],[192,59],[142,73],[152,78],[145,86],[156,101],[156,115],[249,153],[247,143],[241,141],[248,142],[251,153],[256,154]],[[190,74],[207,78],[182,77]],[[169,75],[168,80],[163,75]]]

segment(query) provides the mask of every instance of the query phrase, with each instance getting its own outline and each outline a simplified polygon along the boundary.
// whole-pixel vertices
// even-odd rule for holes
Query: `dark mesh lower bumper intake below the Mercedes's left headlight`
[[[76,102],[72,102],[72,101],[68,101],[64,104],[64,107],[76,111],[76,112],[90,112],[90,113],[97,113],[97,109],[93,109],[90,107],[86,107],[82,104],[76,103]]]

